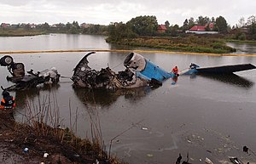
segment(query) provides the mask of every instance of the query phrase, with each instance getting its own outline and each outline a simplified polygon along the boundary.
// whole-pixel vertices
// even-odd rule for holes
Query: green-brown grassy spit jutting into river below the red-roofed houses
[[[225,45],[224,39],[194,35],[186,37],[138,37],[119,41],[113,41],[108,38],[107,42],[194,53],[228,54],[236,52],[235,48]]]

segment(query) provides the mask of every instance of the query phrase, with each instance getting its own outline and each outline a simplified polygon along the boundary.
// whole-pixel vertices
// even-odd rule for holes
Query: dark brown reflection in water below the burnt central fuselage
[[[125,96],[125,99],[137,101],[142,99],[151,91],[152,88],[131,88],[118,89],[110,91],[107,89],[88,89],[88,88],[74,88],[79,100],[87,107],[108,107],[112,105],[119,96]]]

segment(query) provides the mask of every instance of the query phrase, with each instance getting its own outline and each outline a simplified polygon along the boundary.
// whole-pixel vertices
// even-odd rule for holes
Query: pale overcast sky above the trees
[[[159,24],[183,25],[185,19],[223,16],[229,25],[256,16],[256,0],[0,0],[1,23],[81,23],[109,25],[141,15]]]

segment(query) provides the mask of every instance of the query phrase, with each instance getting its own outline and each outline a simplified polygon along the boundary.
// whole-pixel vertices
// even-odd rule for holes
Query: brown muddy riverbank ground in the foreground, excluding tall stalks
[[[0,110],[0,127],[1,163],[121,163],[108,158],[98,142],[79,139],[69,129],[15,122],[6,110]]]

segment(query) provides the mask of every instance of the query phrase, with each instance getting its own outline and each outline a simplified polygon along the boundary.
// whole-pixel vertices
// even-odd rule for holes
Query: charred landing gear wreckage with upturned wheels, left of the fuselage
[[[23,90],[36,88],[39,84],[57,83],[61,76],[54,67],[37,73],[34,73],[33,70],[27,71],[28,74],[26,75],[23,63],[15,63],[9,55],[0,59],[0,65],[7,66],[12,76],[7,76],[6,79],[15,83],[15,85],[5,88],[6,90]]]

